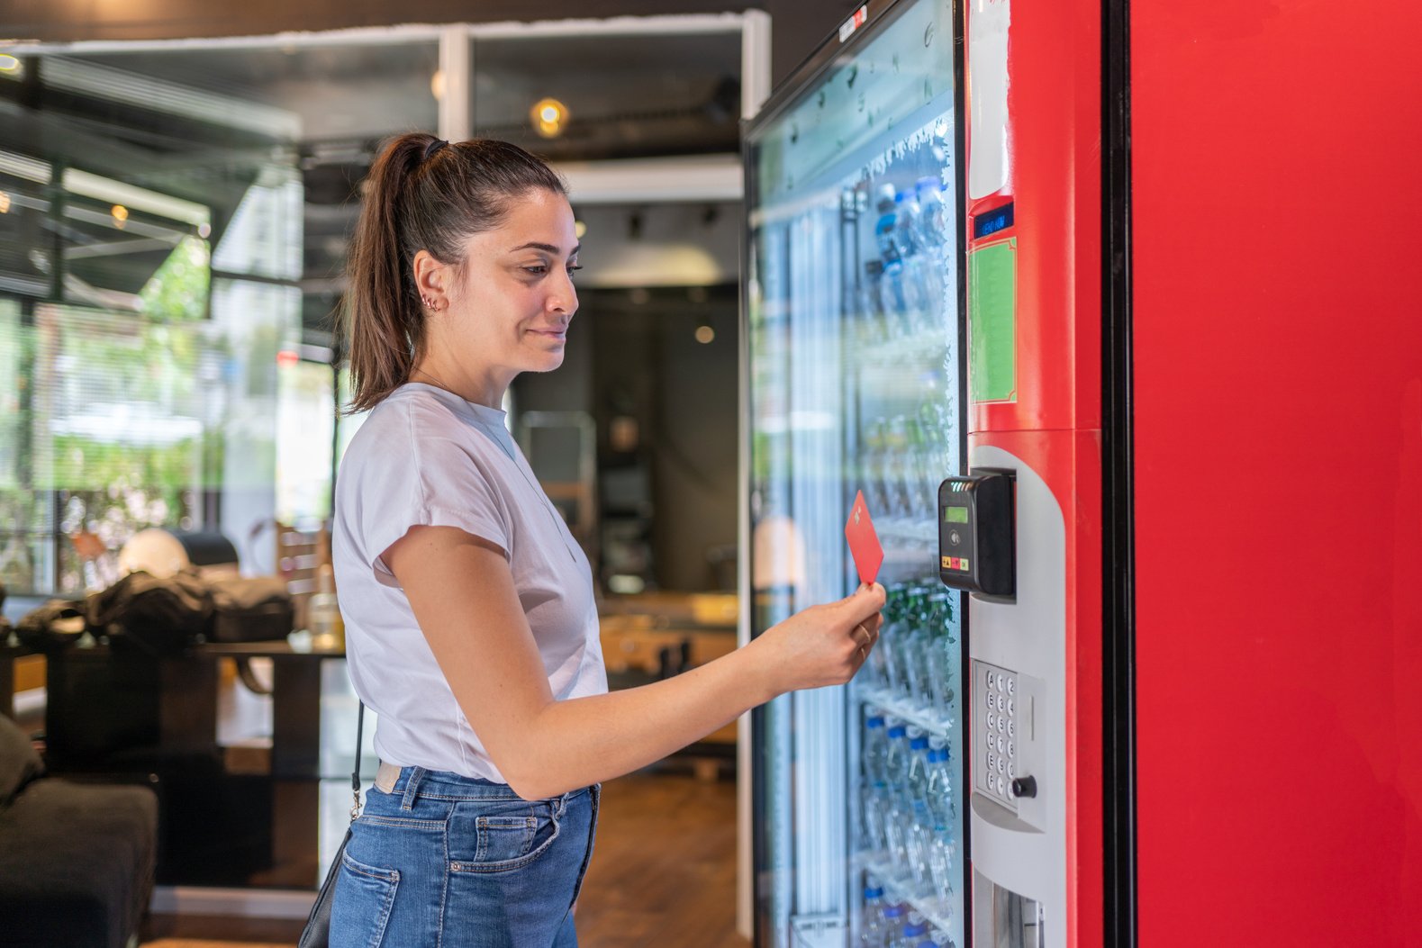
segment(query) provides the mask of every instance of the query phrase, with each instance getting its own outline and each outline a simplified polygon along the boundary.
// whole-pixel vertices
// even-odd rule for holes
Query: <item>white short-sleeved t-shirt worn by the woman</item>
[[[452,526],[503,549],[559,701],[607,691],[587,557],[503,424],[503,412],[410,382],[377,405],[336,478],[331,550],[356,694],[375,750],[398,766],[506,783],[461,712],[381,554],[412,526]],[[482,615],[469,615],[479,634]]]

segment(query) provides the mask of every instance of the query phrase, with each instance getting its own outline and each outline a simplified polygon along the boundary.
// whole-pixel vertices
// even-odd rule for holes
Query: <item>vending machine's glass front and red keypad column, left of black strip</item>
[[[762,945],[1101,937],[1084,10],[866,4],[748,129],[752,632],[853,588],[859,490],[889,590],[850,686],[755,718]]]

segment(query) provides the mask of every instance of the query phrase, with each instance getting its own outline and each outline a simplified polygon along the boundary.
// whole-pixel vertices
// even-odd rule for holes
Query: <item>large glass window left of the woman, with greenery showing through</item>
[[[146,526],[330,516],[358,185],[438,121],[435,34],[20,54],[0,74],[0,581],[104,586]],[[282,438],[299,428],[320,438]]]

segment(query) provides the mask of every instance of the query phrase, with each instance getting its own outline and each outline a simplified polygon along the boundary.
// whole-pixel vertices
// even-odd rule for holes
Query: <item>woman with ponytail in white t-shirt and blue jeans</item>
[[[499,411],[563,361],[577,310],[562,181],[495,141],[394,139],[356,233],[353,404],[334,560],[381,769],[333,945],[566,948],[599,782],[795,688],[848,681],[883,587],[675,678],[607,694],[592,570]]]

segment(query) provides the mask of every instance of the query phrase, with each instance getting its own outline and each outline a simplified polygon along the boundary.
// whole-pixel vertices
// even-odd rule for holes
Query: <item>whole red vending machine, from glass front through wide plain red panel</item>
[[[751,631],[859,490],[890,591],[759,945],[1422,944],[1419,10],[869,3],[751,124]]]

